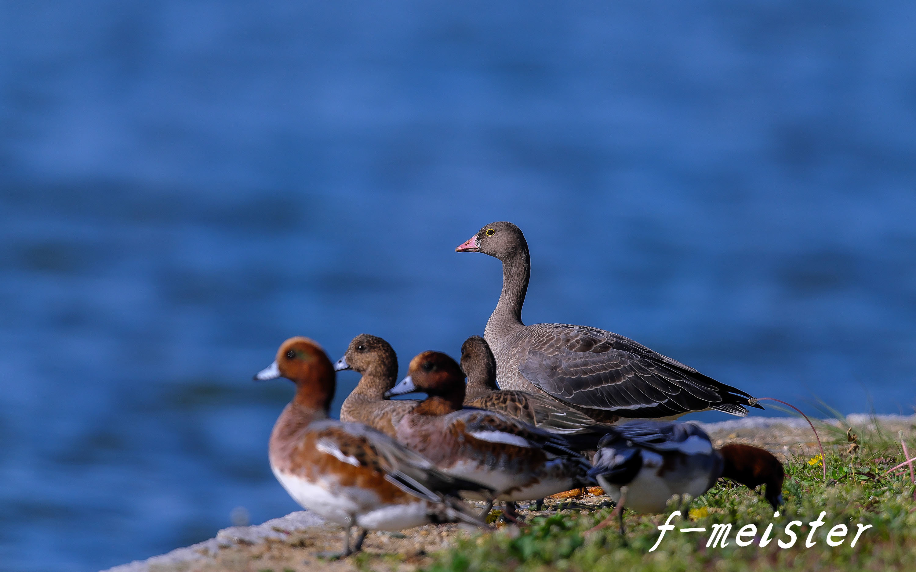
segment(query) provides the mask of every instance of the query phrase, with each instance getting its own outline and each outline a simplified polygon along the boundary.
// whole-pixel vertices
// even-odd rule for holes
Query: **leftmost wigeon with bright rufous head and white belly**
[[[486,526],[457,495],[489,494],[488,487],[444,474],[372,427],[328,418],[334,370],[316,342],[286,340],[276,361],[255,375],[277,377],[295,382],[296,395],[270,435],[270,468],[302,507],[344,527],[341,556],[360,550],[366,530],[457,521]]]

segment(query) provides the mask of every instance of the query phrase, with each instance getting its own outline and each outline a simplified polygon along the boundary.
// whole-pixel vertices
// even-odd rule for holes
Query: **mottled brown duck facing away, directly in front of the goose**
[[[461,347],[461,369],[467,375],[464,405],[495,411],[551,433],[566,436],[577,451],[594,450],[608,426],[544,394],[496,385],[496,360],[486,340],[471,336]]]

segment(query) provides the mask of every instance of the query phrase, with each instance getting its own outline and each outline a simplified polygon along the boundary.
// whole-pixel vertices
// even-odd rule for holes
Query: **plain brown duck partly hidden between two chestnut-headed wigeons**
[[[341,406],[341,421],[363,423],[395,437],[401,417],[420,404],[416,399],[386,400],[384,395],[398,382],[398,355],[381,338],[360,334],[350,342],[334,370],[353,370],[363,377]]]

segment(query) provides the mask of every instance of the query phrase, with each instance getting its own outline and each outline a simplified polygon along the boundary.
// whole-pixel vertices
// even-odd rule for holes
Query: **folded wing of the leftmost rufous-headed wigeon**
[[[492,495],[492,488],[447,475],[430,460],[405,448],[372,427],[356,423],[334,423],[316,427],[316,448],[339,460],[385,474],[385,480],[420,499],[443,502],[445,494],[474,491]]]

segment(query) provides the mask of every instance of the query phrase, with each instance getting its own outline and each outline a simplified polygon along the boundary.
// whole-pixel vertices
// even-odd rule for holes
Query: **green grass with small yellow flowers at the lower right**
[[[671,523],[681,527],[705,527],[706,533],[665,534],[659,548],[649,552],[659,537],[656,528],[666,514],[646,515],[627,511],[628,544],[617,533],[616,523],[596,534],[583,532],[601,522],[610,509],[594,513],[564,511],[550,517],[535,518],[529,527],[507,528],[492,534],[477,534],[459,541],[451,550],[435,555],[428,572],[506,572],[507,570],[570,570],[576,572],[678,572],[687,570],[762,571],[762,570],[916,570],[916,502],[908,471],[885,475],[885,471],[905,460],[896,435],[879,428],[857,431],[860,448],[846,454],[845,427],[834,430],[834,445],[827,452],[827,482],[821,466],[810,457],[795,457],[786,463],[783,486],[785,506],[773,518],[769,503],[747,488],[720,481],[711,491],[692,502],[695,520]],[[842,437],[842,438],[841,438]],[[822,437],[823,438],[823,437]],[[831,440],[828,436],[827,441]],[[911,455],[916,443],[908,441]],[[671,509],[673,510],[673,509]],[[805,547],[811,530],[808,523],[826,511],[824,525],[817,529],[816,545]],[[794,532],[798,540],[791,548],[780,548],[776,539],[786,523],[802,521]],[[706,547],[713,523],[732,523],[728,545]],[[757,525],[758,536],[769,523],[774,540],[759,547],[758,539],[745,547],[737,546],[737,529]],[[845,523],[849,533],[845,543],[826,544],[827,532]],[[871,524],[858,539],[856,523]]]

